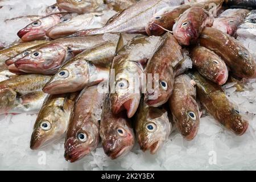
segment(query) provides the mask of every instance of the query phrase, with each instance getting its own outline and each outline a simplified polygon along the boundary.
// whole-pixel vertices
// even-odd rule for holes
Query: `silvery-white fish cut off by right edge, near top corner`
[[[256,10],[252,10],[245,22],[238,27],[237,35],[243,38],[256,38]]]

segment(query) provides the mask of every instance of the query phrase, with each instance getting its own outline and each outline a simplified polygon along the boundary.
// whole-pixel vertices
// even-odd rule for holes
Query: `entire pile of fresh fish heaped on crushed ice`
[[[242,135],[249,124],[222,85],[256,77],[236,39],[256,38],[255,5],[57,0],[0,51],[0,114],[38,114],[30,148],[65,137],[69,162],[100,141],[111,159],[135,140],[155,154],[175,127],[192,140],[203,110]]]

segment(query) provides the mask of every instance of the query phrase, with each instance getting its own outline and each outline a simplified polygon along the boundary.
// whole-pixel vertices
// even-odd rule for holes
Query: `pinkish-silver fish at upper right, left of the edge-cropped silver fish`
[[[214,19],[212,27],[235,36],[238,26],[240,26],[249,12],[246,9],[228,9]]]

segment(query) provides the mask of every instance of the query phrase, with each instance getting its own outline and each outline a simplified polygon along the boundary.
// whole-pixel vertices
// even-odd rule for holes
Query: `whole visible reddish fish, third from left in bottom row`
[[[104,101],[100,122],[100,137],[106,155],[121,158],[134,146],[134,133],[124,112],[113,114],[109,109],[109,95]]]

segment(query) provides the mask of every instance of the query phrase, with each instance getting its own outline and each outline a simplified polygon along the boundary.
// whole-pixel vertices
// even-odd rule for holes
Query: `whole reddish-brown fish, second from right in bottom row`
[[[180,75],[175,78],[169,106],[181,135],[187,140],[195,138],[199,129],[200,112],[196,102],[196,87],[189,76]]]

